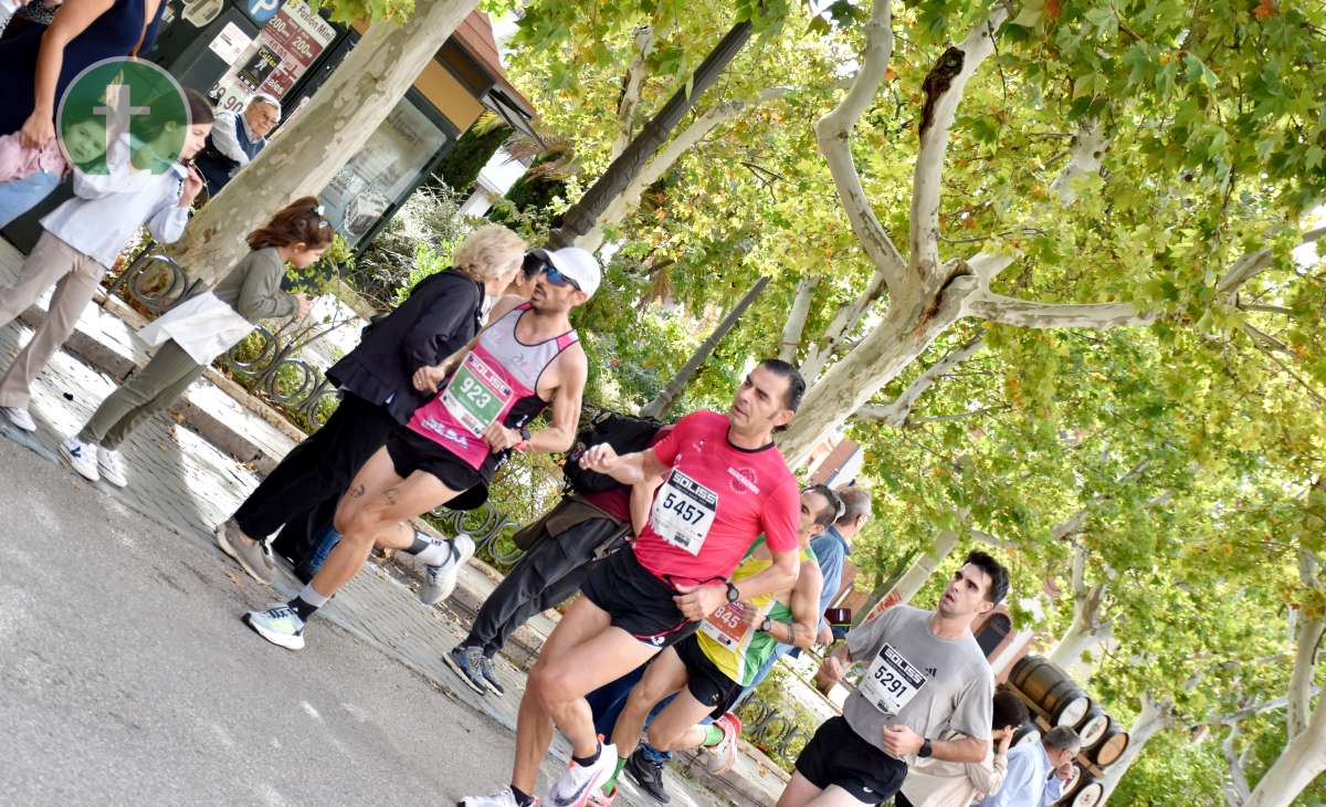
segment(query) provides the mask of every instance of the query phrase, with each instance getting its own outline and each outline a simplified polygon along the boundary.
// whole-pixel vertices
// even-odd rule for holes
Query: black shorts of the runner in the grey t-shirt
[[[825,721],[797,757],[797,772],[819,788],[837,784],[865,804],[894,798],[907,778],[907,763],[870,745],[842,715]]]

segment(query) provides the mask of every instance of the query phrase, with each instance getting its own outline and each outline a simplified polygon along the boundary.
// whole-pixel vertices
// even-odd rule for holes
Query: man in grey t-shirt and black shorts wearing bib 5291
[[[980,762],[991,743],[994,676],[972,621],[1008,593],[1008,569],[971,552],[934,611],[895,605],[847,634],[822,672],[842,680],[851,662],[869,665],[797,758],[777,807],[853,807],[890,800],[907,761],[934,757]],[[936,739],[940,735],[955,739]]]

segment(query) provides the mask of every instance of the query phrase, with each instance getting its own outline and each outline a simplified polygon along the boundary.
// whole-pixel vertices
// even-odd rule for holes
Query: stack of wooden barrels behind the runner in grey
[[[1026,656],[1013,665],[1006,688],[1017,694],[1032,719],[1013,735],[1018,742],[1037,742],[1054,726],[1069,726],[1082,738],[1082,751],[1073,778],[1063,784],[1059,807],[1097,807],[1105,795],[1099,779],[1128,747],[1128,733],[1083,692],[1067,673],[1041,656]],[[1038,734],[1040,733],[1040,734]]]

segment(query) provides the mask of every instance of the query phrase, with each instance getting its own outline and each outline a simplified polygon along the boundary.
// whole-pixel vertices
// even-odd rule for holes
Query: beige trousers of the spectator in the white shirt
[[[8,325],[27,311],[52,284],[56,285],[56,293],[50,297],[50,309],[37,325],[37,332],[19,350],[4,378],[0,378],[0,406],[28,406],[32,380],[74,332],[78,317],[91,301],[105,273],[106,267],[94,259],[49,232],[41,234],[32,255],[23,261],[19,283],[0,289],[0,327]]]

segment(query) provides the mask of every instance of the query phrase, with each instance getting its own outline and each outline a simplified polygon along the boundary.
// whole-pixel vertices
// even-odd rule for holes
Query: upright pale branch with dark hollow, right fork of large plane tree
[[[920,149],[912,174],[911,227],[907,234],[911,248],[908,268],[922,277],[936,277],[940,271],[939,192],[948,130],[953,126],[967,81],[994,52],[994,32],[1006,19],[1006,5],[1000,3],[992,7],[963,44],[951,46],[939,57],[922,85],[926,106],[920,114]]]

